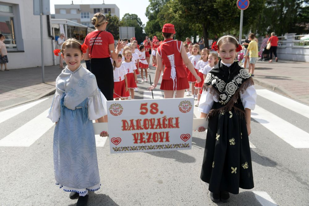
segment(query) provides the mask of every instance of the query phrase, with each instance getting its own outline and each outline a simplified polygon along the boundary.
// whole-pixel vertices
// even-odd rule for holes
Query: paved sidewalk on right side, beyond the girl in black
[[[254,74],[255,83],[309,104],[308,62],[257,61]]]

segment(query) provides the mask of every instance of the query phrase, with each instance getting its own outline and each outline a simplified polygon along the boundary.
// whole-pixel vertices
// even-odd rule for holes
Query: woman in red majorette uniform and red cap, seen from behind
[[[197,75],[192,63],[188,59],[182,42],[172,39],[174,34],[174,25],[170,23],[164,24],[162,28],[164,41],[157,48],[156,54],[158,65],[155,71],[155,81],[148,87],[148,90],[153,90],[157,86],[164,64],[165,68],[160,87],[160,89],[164,91],[164,98],[173,98],[174,93],[175,98],[183,98],[184,90],[189,88],[188,74],[183,63],[185,63],[190,72],[192,72],[197,82],[201,81],[201,78]]]

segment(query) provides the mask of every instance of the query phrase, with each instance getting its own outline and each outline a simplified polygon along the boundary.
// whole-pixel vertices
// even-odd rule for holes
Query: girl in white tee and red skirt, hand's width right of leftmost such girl
[[[134,88],[137,88],[136,83],[137,75],[135,74],[134,70],[137,69],[135,63],[132,61],[132,53],[131,51],[125,52],[125,61],[122,62],[125,69],[127,70],[127,80],[128,80],[128,89],[131,93],[131,99],[134,99]]]

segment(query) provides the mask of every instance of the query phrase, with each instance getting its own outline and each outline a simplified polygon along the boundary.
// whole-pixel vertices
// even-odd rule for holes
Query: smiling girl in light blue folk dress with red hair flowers
[[[54,53],[67,66],[56,79],[56,93],[48,118],[56,122],[53,160],[56,185],[86,205],[88,191],[100,188],[100,176],[92,120],[107,114],[106,98],[94,74],[80,65],[87,45],[68,39]],[[103,132],[106,134],[106,132]],[[102,136],[102,133],[101,133]]]

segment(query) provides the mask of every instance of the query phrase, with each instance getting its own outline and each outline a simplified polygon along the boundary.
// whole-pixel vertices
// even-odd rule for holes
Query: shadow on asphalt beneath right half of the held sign
[[[162,151],[162,152],[161,151],[160,152],[146,152],[146,153],[154,155],[156,157],[175,159],[175,161],[183,162],[183,163],[193,163],[196,161],[194,157],[191,157],[188,154],[179,152],[178,150]]]

